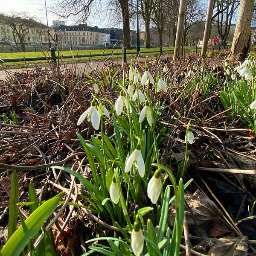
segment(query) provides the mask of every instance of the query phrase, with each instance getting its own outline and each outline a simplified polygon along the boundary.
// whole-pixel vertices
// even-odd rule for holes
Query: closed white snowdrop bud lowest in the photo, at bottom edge
[[[140,256],[143,251],[144,237],[140,229],[140,223],[134,222],[134,228],[131,233],[131,248],[136,256]]]

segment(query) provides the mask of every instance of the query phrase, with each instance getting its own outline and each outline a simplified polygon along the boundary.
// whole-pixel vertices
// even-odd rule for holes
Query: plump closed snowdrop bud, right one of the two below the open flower
[[[154,172],[154,176],[148,182],[148,198],[150,198],[152,204],[156,204],[161,193],[162,183],[160,179],[161,170],[157,169]]]

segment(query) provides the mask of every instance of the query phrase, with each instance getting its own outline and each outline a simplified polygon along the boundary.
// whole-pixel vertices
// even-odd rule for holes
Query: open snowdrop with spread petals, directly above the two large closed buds
[[[125,164],[125,172],[129,172],[131,170],[132,165],[135,165],[137,168],[140,177],[144,177],[145,175],[145,164],[140,150],[140,144],[137,144],[135,150],[128,157],[128,160]]]

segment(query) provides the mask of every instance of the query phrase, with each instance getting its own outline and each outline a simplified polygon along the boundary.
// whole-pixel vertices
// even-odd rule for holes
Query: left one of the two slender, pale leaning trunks
[[[178,18],[178,25],[177,25],[175,48],[174,48],[174,53],[173,53],[174,61],[176,61],[177,56],[180,55],[180,48],[181,48],[181,42],[182,42],[183,27],[184,27],[187,3],[188,3],[188,0],[180,0],[179,18]]]

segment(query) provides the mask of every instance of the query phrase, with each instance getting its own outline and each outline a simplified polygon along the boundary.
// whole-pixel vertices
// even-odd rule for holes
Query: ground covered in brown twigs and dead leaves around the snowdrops
[[[191,53],[175,63],[172,56],[156,56],[147,61],[152,76],[161,76],[169,85],[167,92],[157,95],[158,102],[165,106],[160,109],[157,128],[165,138],[159,148],[160,162],[175,176],[185,157],[184,137],[190,119],[194,134],[183,175],[184,183],[190,178],[193,181],[185,189],[181,255],[256,253],[255,131],[240,118],[241,113],[234,117],[220,99],[226,79],[232,80],[231,73],[225,73],[223,66],[227,54],[227,51],[211,52],[208,58],[201,60]],[[134,67],[143,74],[145,63],[134,60]],[[162,71],[164,67],[166,72]],[[234,67],[231,65],[230,70]],[[80,196],[86,197],[88,193],[79,180],[73,182],[70,190],[70,175],[50,166],[68,167],[92,182],[90,166],[84,167],[88,160],[76,132],[90,140],[94,129],[87,119],[80,126],[77,120],[90,107],[94,83],[99,86],[99,98],[114,104],[119,96],[117,83],[124,76],[128,77],[128,70],[129,64],[124,67],[104,65],[101,70],[90,70],[85,75],[68,65],[61,71],[52,66],[46,70],[15,73],[0,81],[0,232],[3,243],[6,243],[8,229],[12,169],[17,170],[20,202],[28,201],[29,183],[33,179],[39,201],[64,191],[63,201],[71,196],[70,201],[90,207]],[[150,86],[153,96],[154,87]],[[113,109],[108,110],[113,112]],[[113,127],[108,122],[104,126],[105,134],[111,136]],[[172,132],[168,133],[171,128]],[[171,184],[166,175],[163,180]],[[145,194],[141,191],[140,201],[129,205],[131,218],[134,210],[151,205]],[[20,209],[26,218],[29,208]],[[156,212],[148,215],[157,225]],[[87,240],[113,236],[116,229],[111,221],[100,219],[99,223],[98,217],[88,209],[68,206],[52,227],[58,253],[68,256],[73,251],[81,255],[91,245]],[[172,202],[168,217],[170,227],[174,218],[175,202]]]

